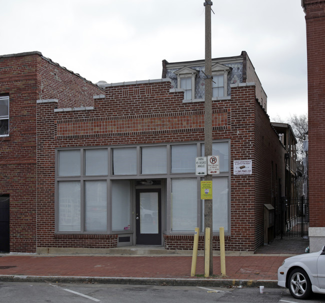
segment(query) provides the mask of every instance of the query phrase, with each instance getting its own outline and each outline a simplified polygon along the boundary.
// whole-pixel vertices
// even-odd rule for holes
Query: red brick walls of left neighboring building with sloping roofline
[[[40,53],[0,57],[0,95],[10,98],[10,136],[0,137],[0,194],[10,198],[11,252],[36,250],[36,100],[53,98],[64,106],[87,106],[93,105],[93,95],[102,93]],[[39,184],[46,184],[46,174],[42,177]]]

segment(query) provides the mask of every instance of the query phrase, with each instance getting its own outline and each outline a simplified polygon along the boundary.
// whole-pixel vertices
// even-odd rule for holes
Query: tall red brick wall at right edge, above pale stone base
[[[308,65],[310,227],[325,226],[325,1],[304,0]]]

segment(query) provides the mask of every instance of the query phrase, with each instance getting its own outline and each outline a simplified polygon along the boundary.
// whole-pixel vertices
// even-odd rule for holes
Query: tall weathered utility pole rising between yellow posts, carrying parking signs
[[[205,7],[205,93],[204,93],[204,156],[212,155],[212,60],[211,60],[211,5],[206,0]],[[206,175],[205,181],[212,182],[212,175]],[[212,193],[213,194],[213,193]],[[213,275],[213,233],[212,233],[212,200],[204,200],[204,230],[210,228],[209,276]],[[205,243],[205,241],[204,241]]]

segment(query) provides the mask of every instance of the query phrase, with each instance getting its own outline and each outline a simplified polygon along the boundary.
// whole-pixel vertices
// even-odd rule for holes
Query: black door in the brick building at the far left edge
[[[0,252],[9,251],[9,196],[0,196]]]

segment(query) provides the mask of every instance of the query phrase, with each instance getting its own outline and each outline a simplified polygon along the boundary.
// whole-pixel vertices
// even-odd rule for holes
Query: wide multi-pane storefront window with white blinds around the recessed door
[[[225,232],[229,228],[228,144],[212,144],[212,154],[220,157],[220,174],[213,176],[215,232],[221,226]],[[170,228],[166,230],[192,233],[197,225],[203,227],[204,203],[200,205],[198,193],[200,177],[195,176],[195,157],[199,156],[200,146],[204,153],[203,143],[58,150],[56,232],[134,232],[134,226],[130,225],[134,186],[160,185],[162,179],[171,184],[170,204],[166,204],[170,208],[165,209],[166,216],[170,214]],[[144,174],[151,175],[150,180]],[[158,174],[161,180],[152,177]],[[166,196],[169,197],[168,193]]]

